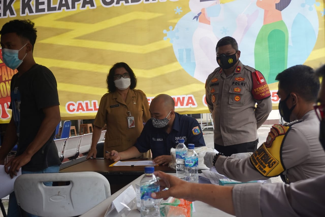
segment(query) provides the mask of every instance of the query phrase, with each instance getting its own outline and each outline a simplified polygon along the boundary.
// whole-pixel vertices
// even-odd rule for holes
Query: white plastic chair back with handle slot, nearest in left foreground
[[[70,185],[45,186],[47,181],[70,181]],[[46,217],[82,215],[110,197],[110,183],[97,172],[23,174],[14,189],[24,211]]]

